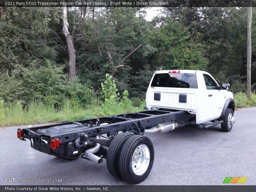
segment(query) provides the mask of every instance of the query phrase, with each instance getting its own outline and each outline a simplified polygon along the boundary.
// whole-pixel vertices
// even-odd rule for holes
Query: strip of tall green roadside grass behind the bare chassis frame
[[[19,101],[4,103],[3,100],[0,100],[0,126],[77,121],[142,111],[143,105],[145,106],[145,103],[141,103],[140,107],[121,103],[102,106],[99,100],[93,100],[90,105],[83,106],[66,99],[58,109],[43,102],[31,102],[27,107],[22,108]]]

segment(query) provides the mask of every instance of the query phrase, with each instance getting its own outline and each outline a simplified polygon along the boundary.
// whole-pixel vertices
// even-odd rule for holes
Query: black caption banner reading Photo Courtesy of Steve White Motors
[[[255,192],[256,186],[252,185],[224,185],[224,186],[22,186],[22,185],[14,185],[14,186],[0,186],[1,192],[208,192],[208,191],[216,191],[216,192]]]

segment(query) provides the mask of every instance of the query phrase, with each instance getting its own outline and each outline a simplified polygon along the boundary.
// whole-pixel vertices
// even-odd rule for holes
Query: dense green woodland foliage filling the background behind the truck
[[[115,94],[124,93],[125,99],[128,90],[129,96],[144,98],[152,74],[160,68],[206,70],[218,83],[230,83],[233,92],[246,91],[246,8],[164,8],[152,21],[145,19],[146,10],[68,8],[77,74],[70,82],[61,9],[1,9],[1,100],[58,105],[66,97],[82,103],[95,95],[109,99],[113,94],[99,94],[107,86],[101,84],[106,73],[115,81]],[[255,24],[252,17],[254,91]]]

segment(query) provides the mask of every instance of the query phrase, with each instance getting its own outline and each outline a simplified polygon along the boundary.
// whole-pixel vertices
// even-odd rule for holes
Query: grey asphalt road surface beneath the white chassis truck
[[[248,177],[244,184],[256,185],[256,108],[239,109],[235,117],[228,133],[221,132],[220,125],[198,129],[190,124],[164,134],[145,134],[154,144],[155,161],[140,185],[221,185],[228,176]],[[17,139],[19,127],[26,126],[0,128],[1,185],[127,185],[110,175],[106,161],[64,161],[32,149],[28,140]],[[40,182],[6,183],[5,178]],[[62,183],[45,182],[48,179]]]

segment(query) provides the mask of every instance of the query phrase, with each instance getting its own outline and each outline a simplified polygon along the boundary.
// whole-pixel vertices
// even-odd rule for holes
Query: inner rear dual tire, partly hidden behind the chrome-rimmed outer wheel
[[[107,168],[111,175],[121,179],[120,173],[118,171],[118,162],[121,153],[121,149],[124,146],[124,143],[130,138],[132,133],[121,133],[118,134],[113,141],[110,143],[107,152]]]

